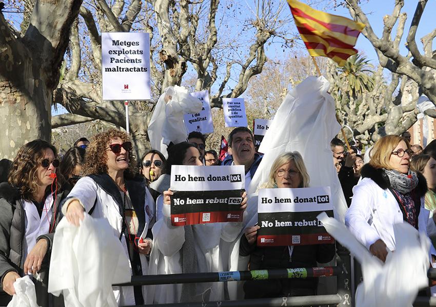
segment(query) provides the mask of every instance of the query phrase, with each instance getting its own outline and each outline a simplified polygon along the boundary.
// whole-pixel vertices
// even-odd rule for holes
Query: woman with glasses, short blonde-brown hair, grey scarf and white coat
[[[345,225],[376,257],[386,260],[395,250],[393,225],[409,223],[427,233],[424,208],[425,178],[410,170],[410,144],[399,136],[385,136],[371,149],[371,160],[361,169],[353,189]],[[427,212],[427,213],[425,213]]]

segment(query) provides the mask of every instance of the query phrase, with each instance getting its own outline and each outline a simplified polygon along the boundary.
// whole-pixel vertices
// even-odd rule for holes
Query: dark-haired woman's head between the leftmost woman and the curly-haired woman
[[[85,162],[86,150],[82,147],[71,147],[65,152],[61,160],[60,171],[66,180],[65,189],[71,191],[76,182],[81,178],[82,165]]]

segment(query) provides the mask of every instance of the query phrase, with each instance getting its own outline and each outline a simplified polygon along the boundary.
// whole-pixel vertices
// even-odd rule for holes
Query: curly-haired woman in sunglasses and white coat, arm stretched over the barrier
[[[86,148],[84,177],[71,190],[62,212],[76,226],[85,212],[106,218],[129,256],[132,275],[146,275],[145,256],[151,250],[151,239],[146,234],[154,223],[154,202],[144,177],[135,177],[135,166],[127,133],[110,129],[95,135]],[[113,290],[118,304],[144,304],[140,286]]]

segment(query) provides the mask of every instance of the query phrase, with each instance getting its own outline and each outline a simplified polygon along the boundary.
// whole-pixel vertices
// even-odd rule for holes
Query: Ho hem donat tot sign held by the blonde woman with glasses
[[[258,246],[333,243],[316,216],[333,216],[330,187],[260,189],[257,202]]]

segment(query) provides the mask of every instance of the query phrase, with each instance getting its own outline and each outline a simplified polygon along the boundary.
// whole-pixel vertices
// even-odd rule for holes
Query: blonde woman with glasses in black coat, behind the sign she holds
[[[268,181],[262,188],[306,188],[309,174],[298,151],[285,152],[272,164]],[[250,201],[251,203],[251,201]],[[256,222],[256,221],[254,221]],[[251,223],[250,223],[251,224]],[[252,224],[251,224],[252,225]],[[330,261],[334,244],[258,247],[259,225],[248,227],[241,238],[240,256],[250,256],[250,270],[316,267],[316,262]],[[318,278],[270,279],[246,281],[245,298],[316,295]]]

